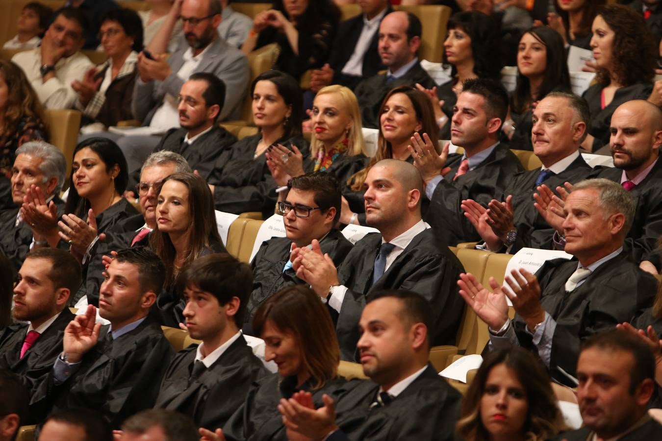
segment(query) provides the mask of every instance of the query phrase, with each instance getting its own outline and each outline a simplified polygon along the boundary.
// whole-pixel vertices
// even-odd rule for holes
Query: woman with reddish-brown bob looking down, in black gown
[[[273,360],[277,374],[256,381],[242,407],[223,427],[227,441],[287,440],[277,406],[297,391],[310,391],[315,407],[322,395],[337,399],[345,381],[338,377],[340,348],[324,303],[303,285],[283,288],[258,308],[253,329],[265,342],[264,359]],[[211,440],[223,438],[201,429]],[[204,438],[203,438],[204,439]]]

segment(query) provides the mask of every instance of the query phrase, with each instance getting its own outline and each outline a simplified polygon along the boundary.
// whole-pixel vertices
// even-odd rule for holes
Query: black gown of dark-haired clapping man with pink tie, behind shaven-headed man
[[[510,180],[515,173],[524,170],[520,160],[501,143],[478,167],[453,180],[461,161],[462,155],[449,155],[446,165],[451,171],[434,189],[428,211],[423,216],[436,234],[453,247],[460,242],[481,240],[463,214],[462,200],[473,199],[485,207],[493,199],[503,200]]]

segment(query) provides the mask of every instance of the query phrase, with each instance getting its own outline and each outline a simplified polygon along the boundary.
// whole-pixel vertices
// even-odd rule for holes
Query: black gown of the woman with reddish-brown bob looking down
[[[230,417],[223,434],[227,441],[287,441],[283,416],[277,409],[281,398],[289,399],[299,390],[310,391],[315,407],[322,407],[322,395],[325,393],[334,400],[338,399],[338,391],[342,390],[344,378],[326,381],[324,386],[316,391],[305,381],[301,387],[296,387],[296,377],[282,378],[278,374],[265,376],[256,380],[248,390],[246,401],[242,407]]]

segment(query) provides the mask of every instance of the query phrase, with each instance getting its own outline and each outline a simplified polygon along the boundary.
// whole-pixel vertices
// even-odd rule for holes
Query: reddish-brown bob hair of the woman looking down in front
[[[338,374],[340,346],[326,307],[310,288],[283,288],[260,305],[253,317],[256,335],[271,321],[282,333],[290,333],[299,345],[303,367],[310,373],[313,389],[320,389]]]

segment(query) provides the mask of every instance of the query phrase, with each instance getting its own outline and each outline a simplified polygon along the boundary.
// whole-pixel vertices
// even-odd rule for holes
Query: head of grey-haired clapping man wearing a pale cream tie
[[[565,200],[565,252],[587,267],[623,246],[634,220],[634,200],[608,179],[577,182]]]

